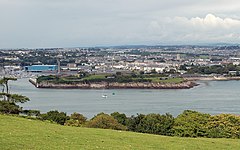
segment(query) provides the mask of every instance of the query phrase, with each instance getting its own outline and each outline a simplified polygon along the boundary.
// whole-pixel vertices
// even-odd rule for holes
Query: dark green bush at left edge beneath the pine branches
[[[15,103],[9,101],[0,101],[0,113],[4,114],[19,114],[21,108]]]

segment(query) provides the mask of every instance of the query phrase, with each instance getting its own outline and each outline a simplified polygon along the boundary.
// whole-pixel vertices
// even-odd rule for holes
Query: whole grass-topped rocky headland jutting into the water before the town
[[[189,89],[198,85],[179,77],[135,73],[49,75],[29,81],[37,88],[60,89]]]

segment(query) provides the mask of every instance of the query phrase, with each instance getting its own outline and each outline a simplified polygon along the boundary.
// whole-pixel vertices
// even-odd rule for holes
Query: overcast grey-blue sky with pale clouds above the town
[[[0,48],[240,43],[239,0],[0,0]]]

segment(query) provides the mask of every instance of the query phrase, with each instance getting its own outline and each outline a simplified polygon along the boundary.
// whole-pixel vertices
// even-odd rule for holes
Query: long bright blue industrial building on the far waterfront
[[[49,71],[57,71],[57,65],[32,65],[25,66],[24,70],[27,72],[49,72]]]

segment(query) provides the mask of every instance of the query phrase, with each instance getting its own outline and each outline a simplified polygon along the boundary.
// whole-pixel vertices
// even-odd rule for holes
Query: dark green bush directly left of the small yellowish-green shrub
[[[46,114],[41,114],[39,116],[41,120],[49,120],[56,122],[58,124],[64,125],[66,120],[69,119],[69,117],[66,115],[64,112],[58,112],[57,110],[55,111],[49,111]]]

